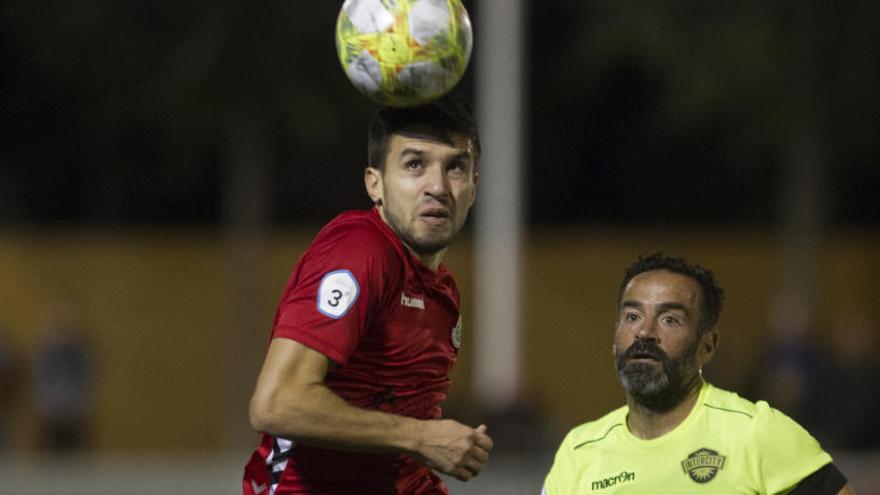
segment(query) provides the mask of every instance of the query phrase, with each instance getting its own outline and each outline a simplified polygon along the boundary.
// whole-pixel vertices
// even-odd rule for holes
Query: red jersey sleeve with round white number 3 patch
[[[391,243],[366,222],[328,226],[288,281],[272,337],[295,340],[345,364],[402,279]]]

